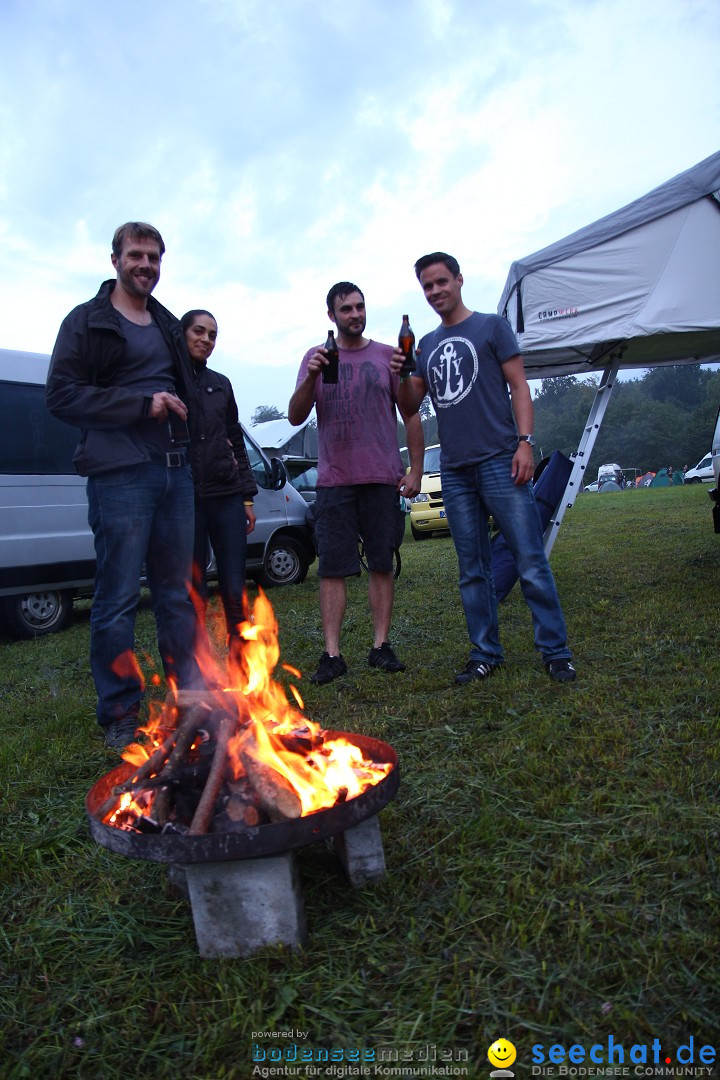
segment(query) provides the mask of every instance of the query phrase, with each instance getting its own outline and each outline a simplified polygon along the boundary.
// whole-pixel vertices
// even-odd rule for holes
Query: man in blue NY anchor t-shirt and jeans
[[[465,307],[460,266],[451,255],[424,255],[415,270],[441,322],[420,341],[416,369],[403,378],[398,404],[403,411],[417,411],[430,393],[437,415],[443,498],[472,644],[456,683],[487,678],[504,659],[490,516],[515,559],[547,673],[557,683],[571,683],[575,670],[532,494],[532,399],[517,340],[506,320]],[[399,372],[398,356],[392,366]]]

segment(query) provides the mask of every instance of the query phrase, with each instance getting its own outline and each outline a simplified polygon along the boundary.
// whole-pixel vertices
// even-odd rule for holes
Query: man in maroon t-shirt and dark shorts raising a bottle
[[[323,347],[310,349],[300,365],[288,406],[290,423],[317,414],[317,502],[315,542],[321,578],[320,605],[325,651],[312,683],[331,683],[348,665],[340,652],[340,631],[348,604],[345,579],[359,573],[357,537],[365,543],[373,643],[368,664],[388,674],[405,671],[389,642],[395,582],[398,495],[412,498],[422,477],[422,426],[405,415],[410,471],[405,474],[397,447],[397,389],[390,369],[395,350],[364,337],[365,297],[351,282],[338,282],[327,296],[340,353],[336,383],[321,378],[327,365]]]

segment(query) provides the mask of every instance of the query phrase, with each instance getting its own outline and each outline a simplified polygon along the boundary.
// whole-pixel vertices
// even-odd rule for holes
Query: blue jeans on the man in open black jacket
[[[87,480],[87,519],[97,558],[90,663],[103,727],[136,715],[142,699],[145,680],[134,649],[144,565],[165,677],[180,689],[203,686],[189,593],[193,501],[187,465],[167,469],[148,462]]]

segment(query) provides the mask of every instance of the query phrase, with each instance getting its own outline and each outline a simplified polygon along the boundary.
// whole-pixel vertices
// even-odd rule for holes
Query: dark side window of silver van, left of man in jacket
[[[0,383],[0,473],[72,474],[80,432],[45,408],[45,388]]]

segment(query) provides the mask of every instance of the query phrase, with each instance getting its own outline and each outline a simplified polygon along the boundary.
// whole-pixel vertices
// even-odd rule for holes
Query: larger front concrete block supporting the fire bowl
[[[249,956],[264,945],[299,948],[305,915],[295,853],[186,865],[202,957]]]

